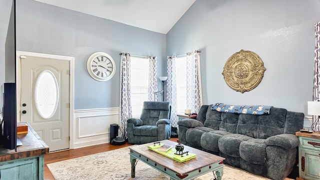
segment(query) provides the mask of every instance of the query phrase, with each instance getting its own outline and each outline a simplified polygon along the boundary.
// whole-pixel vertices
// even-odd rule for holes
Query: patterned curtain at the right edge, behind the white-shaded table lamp
[[[313,101],[320,100],[320,22],[314,24],[315,27],[315,49],[313,63]],[[317,116],[312,116],[312,122],[315,122]],[[312,124],[313,125],[313,124]],[[317,129],[320,129],[317,124]]]

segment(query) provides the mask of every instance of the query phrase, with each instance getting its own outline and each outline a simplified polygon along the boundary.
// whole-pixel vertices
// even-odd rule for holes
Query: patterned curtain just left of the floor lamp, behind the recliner
[[[148,101],[158,101],[158,95],[154,92],[158,91],[156,80],[156,56],[149,56],[149,81],[148,81]]]

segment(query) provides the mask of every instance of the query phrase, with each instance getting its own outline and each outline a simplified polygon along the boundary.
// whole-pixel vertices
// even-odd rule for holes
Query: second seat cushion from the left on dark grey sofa
[[[212,130],[209,132],[204,132],[201,135],[201,140],[200,140],[201,147],[209,151],[218,152],[219,151],[218,140],[221,136],[226,134],[231,134],[231,132],[227,132],[223,130]]]

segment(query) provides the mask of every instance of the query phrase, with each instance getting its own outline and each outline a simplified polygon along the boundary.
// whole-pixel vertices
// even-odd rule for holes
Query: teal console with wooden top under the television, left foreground
[[[0,180],[43,179],[44,154],[49,152],[49,147],[30,125],[28,133],[17,137],[22,145],[17,146],[16,151],[0,148]]]

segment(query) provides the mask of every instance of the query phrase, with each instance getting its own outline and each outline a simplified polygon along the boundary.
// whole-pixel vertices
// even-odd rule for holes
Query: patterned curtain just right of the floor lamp
[[[175,61],[176,56],[167,56],[167,81],[166,81],[166,101],[171,104],[171,126],[177,127],[177,99],[175,83]]]

